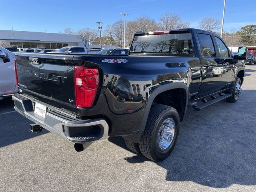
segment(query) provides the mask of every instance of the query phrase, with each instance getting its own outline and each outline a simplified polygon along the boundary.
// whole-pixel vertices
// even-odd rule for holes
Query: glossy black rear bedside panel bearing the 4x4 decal
[[[112,59],[116,62],[105,62]],[[125,59],[126,62],[118,62]],[[190,91],[197,91],[200,70],[196,57],[163,56],[74,56],[84,66],[98,66],[102,86],[93,109],[77,108],[81,118],[104,116],[111,123],[110,136],[134,134],[140,130],[148,98],[166,84],[181,82]],[[77,63],[78,64],[78,63]],[[192,78],[195,77],[193,80]],[[194,90],[192,90],[194,89]]]

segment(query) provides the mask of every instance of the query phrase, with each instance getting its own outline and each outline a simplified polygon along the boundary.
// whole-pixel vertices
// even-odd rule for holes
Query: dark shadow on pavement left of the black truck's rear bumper
[[[0,148],[48,133],[48,130],[40,133],[31,132],[30,124],[33,122],[18,112],[11,112],[14,111],[13,107],[11,99],[0,101]]]

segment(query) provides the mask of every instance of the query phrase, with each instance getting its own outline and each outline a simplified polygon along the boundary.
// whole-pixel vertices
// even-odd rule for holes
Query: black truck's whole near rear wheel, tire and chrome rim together
[[[156,104],[150,110],[140,152],[153,161],[162,161],[172,152],[179,132],[179,114],[173,107]]]

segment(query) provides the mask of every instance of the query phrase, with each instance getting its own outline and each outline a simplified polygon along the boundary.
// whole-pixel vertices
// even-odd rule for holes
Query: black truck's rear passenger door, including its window
[[[221,90],[222,64],[217,57],[214,37],[207,32],[197,33],[202,61],[201,87],[197,98],[202,98]]]

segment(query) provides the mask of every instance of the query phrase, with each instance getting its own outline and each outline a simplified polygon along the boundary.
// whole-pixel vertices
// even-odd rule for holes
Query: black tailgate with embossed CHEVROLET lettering
[[[69,106],[75,112],[73,56],[15,54],[18,83],[23,93],[45,102]],[[39,99],[40,100],[40,99]],[[72,107],[73,106],[73,107]]]

